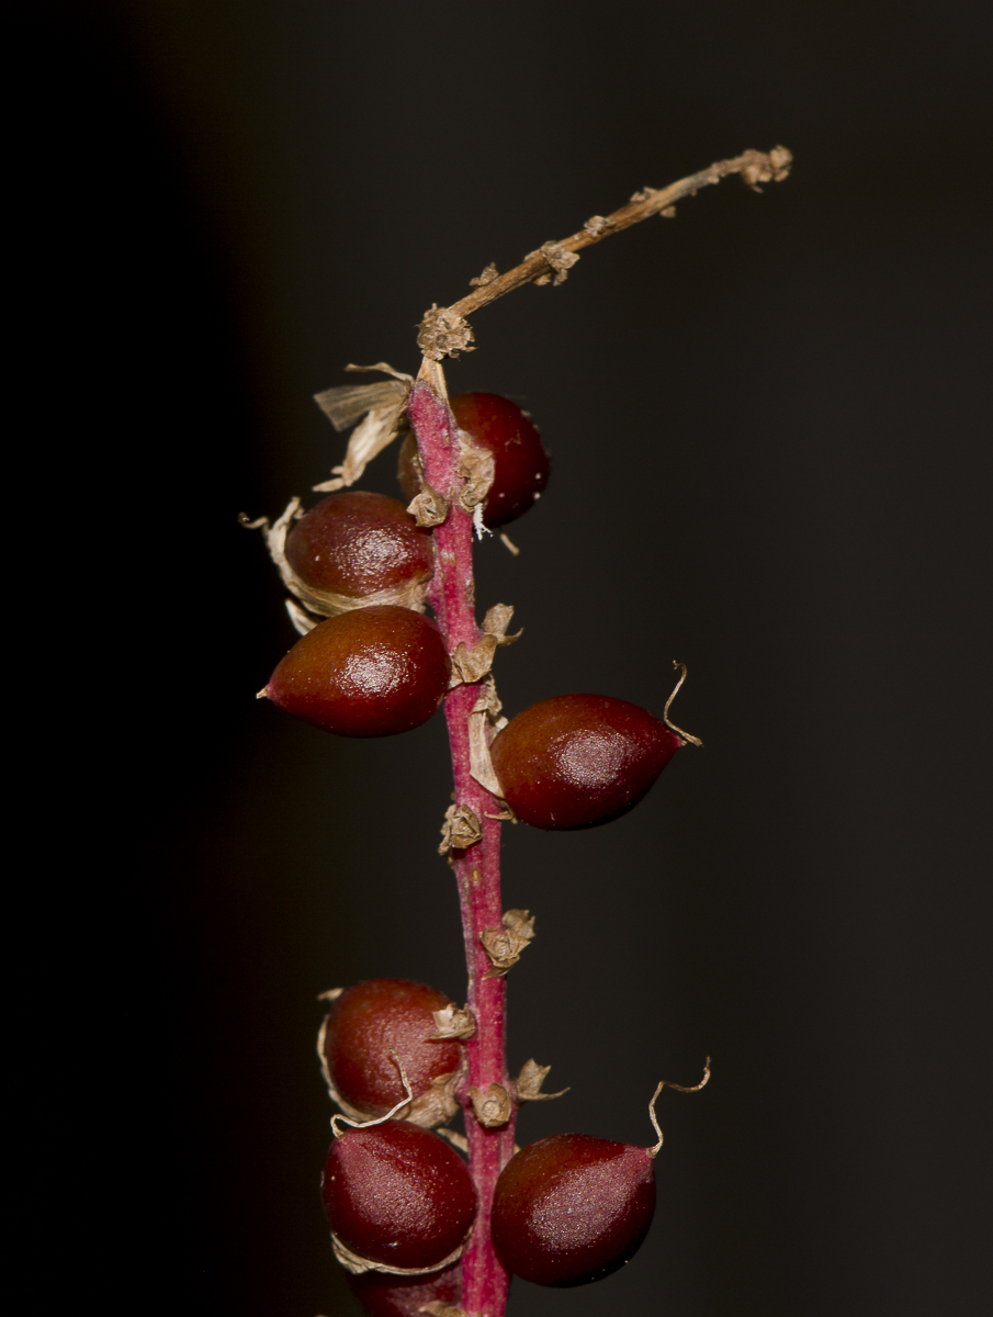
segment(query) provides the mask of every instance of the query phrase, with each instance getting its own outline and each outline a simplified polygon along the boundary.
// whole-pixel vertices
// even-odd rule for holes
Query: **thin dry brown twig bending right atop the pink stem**
[[[770,151],[743,151],[728,161],[716,161],[698,174],[681,178],[669,187],[645,187],[635,192],[627,205],[612,215],[594,215],[578,233],[558,242],[544,242],[537,252],[531,252],[520,265],[506,274],[498,274],[490,263],[483,273],[470,282],[474,291],[450,307],[433,306],[425,312],[417,336],[417,346],[425,357],[441,361],[460,352],[473,352],[473,331],[466,316],[487,307],[525,283],[558,284],[568,278],[569,270],[579,259],[578,253],[614,233],[640,224],[653,215],[672,217],[676,203],[686,196],[695,196],[702,187],[719,183],[730,174],[740,174],[744,183],[755,191],[761,191],[763,183],[781,183],[789,175],[793,155],[785,146],[773,146]]]

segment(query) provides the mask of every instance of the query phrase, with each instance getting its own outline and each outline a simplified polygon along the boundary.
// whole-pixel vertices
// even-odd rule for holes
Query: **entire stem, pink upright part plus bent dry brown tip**
[[[490,266],[474,292],[450,307],[433,307],[424,317],[417,338],[424,363],[410,396],[408,420],[417,440],[424,481],[448,503],[444,522],[435,529],[436,572],[428,601],[445,636],[449,653],[458,644],[473,651],[481,632],[475,623],[473,581],[473,518],[458,503],[464,478],[457,465],[461,456],[456,423],[448,406],[441,367],[443,357],[466,350],[473,338],[465,317],[525,283],[560,283],[578,259],[578,253],[612,233],[647,220],[672,213],[672,207],[702,187],[740,174],[756,190],[760,183],[781,182],[790,170],[790,153],[777,146],[772,151],[744,151],[728,161],[680,179],[666,188],[636,192],[627,205],[608,216],[593,216],[578,233],[560,242],[545,242],[519,266],[499,275]],[[445,719],[452,747],[454,801],[470,811],[478,823],[478,839],[450,852],[462,910],[468,1005],[475,1017],[475,1033],[466,1042],[469,1073],[461,1096],[469,1143],[469,1167],[479,1195],[473,1234],[462,1254],[462,1308],[469,1317],[503,1317],[510,1277],[496,1259],[490,1239],[490,1205],[500,1169],[514,1152],[516,1105],[510,1102],[503,1125],[485,1126],[477,1118],[470,1090],[485,1094],[499,1085],[504,1094],[514,1089],[506,1063],[506,979],[493,973],[481,935],[499,930],[502,922],[499,846],[502,802],[490,794],[470,772],[469,718],[479,697],[479,682],[466,682],[445,697]]]

